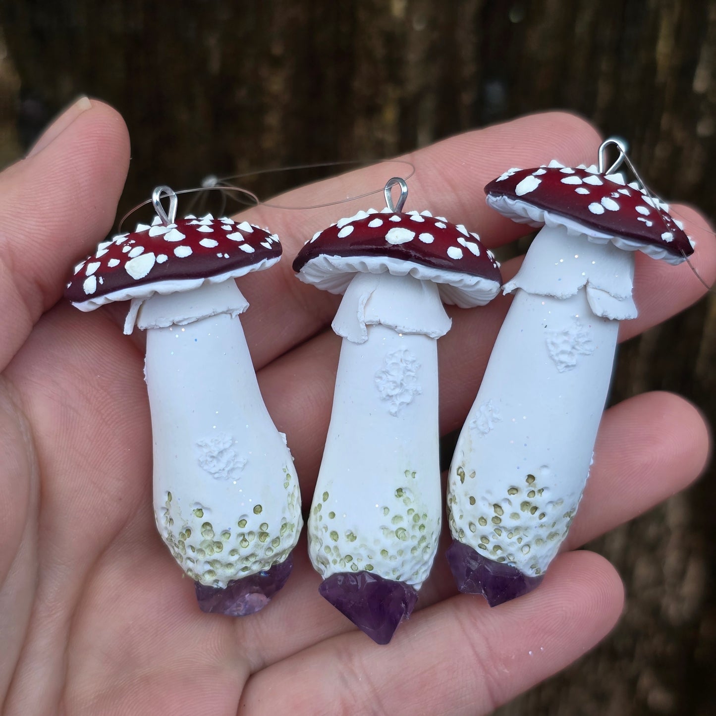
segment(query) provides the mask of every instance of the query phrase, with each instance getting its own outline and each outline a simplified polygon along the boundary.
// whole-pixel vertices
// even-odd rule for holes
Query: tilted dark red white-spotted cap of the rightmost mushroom
[[[625,185],[621,175],[596,167],[553,161],[546,167],[510,169],[485,186],[485,193],[488,204],[504,216],[533,226],[579,227],[588,238],[611,240],[669,263],[681,263],[694,251],[666,204],[636,183]]]

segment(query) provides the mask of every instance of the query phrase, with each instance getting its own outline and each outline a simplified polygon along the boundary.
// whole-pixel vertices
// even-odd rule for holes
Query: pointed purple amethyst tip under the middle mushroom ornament
[[[410,584],[366,571],[332,574],[318,591],[376,644],[390,642],[417,601],[417,591]]]

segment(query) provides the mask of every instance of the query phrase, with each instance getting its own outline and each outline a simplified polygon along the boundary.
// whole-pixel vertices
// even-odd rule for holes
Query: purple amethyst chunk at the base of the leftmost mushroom
[[[201,611],[227,616],[246,616],[263,609],[271,597],[286,584],[294,566],[293,553],[269,569],[242,579],[233,579],[226,588],[194,582]]]

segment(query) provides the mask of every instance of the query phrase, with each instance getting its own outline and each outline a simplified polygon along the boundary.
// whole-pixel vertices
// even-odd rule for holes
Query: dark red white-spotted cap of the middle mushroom
[[[476,233],[430,212],[360,211],[306,242],[294,260],[301,281],[342,294],[357,271],[434,281],[446,303],[487,303],[500,289],[495,256]]]

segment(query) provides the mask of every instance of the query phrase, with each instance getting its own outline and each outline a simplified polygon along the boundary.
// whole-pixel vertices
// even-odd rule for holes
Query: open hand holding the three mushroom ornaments
[[[0,698],[26,714],[482,714],[562,669],[604,637],[623,591],[614,568],[573,551],[684,488],[707,460],[707,427],[681,398],[649,393],[606,411],[569,539],[543,584],[490,609],[456,594],[442,548],[413,616],[387,646],[357,632],[294,573],[267,609],[243,619],[201,613],[193,583],[156,533],[142,334],[122,308],[80,314],[59,301],[68,271],[112,228],[129,142],[100,102],[0,175]],[[482,187],[505,166],[590,160],[599,137],[570,115],[524,117],[409,157],[415,205],[478,228],[486,246],[526,231],[487,208]],[[301,188],[282,205],[315,205],[382,188],[385,166]],[[363,200],[364,201],[364,200]],[[241,279],[244,329],[263,397],[286,432],[304,505],[329,422],[340,339],[338,298],[294,279],[303,241],[359,203],[269,208],[243,218],[281,236],[286,258]],[[676,206],[711,283],[716,241]],[[509,279],[518,261],[503,264]],[[637,256],[634,336],[705,289],[686,264]],[[58,302],[59,301],[59,302]],[[450,309],[440,341],[440,430],[459,427],[478,389],[508,298]],[[446,543],[445,543],[446,546]]]

